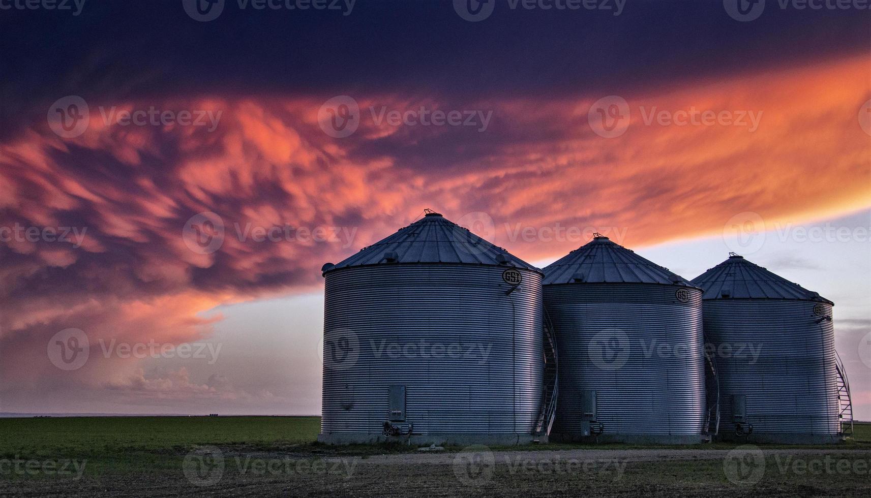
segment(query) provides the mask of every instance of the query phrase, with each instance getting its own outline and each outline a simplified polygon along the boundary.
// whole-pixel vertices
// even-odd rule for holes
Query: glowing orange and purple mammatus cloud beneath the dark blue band
[[[492,233],[482,235],[535,260],[582,245],[592,230],[612,229],[638,246],[719,233],[738,212],[768,223],[871,204],[871,145],[857,121],[871,98],[866,59],[675,88],[620,96],[628,127],[615,138],[598,135],[588,118],[605,96],[583,92],[462,103],[351,96],[361,119],[347,138],[321,130],[318,111],[334,97],[321,95],[89,102],[89,126],[74,138],[32,125],[0,144],[0,225],[38,232],[0,245],[0,398],[75,387],[125,400],[271,398],[234,388],[238,372],[191,380],[187,371],[148,373],[141,361],[98,353],[62,372],[45,348],[68,327],[83,330],[92,349],[100,340],[206,338],[216,319],[199,313],[314,289],[322,263],[394,232],[424,207],[455,220],[486,213]],[[112,106],[220,111],[220,120],[213,131],[106,123],[100,107]],[[492,118],[486,131],[391,125],[376,118],[382,108]],[[681,124],[693,110],[732,118]],[[741,114],[746,124],[734,123]],[[223,237],[192,250],[183,232],[203,212],[218,217]],[[583,237],[542,232],[557,226]],[[57,241],[47,227],[84,236]]]

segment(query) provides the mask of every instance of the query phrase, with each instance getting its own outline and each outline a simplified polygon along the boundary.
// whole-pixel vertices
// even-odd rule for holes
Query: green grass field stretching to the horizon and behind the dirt
[[[325,454],[363,456],[415,452],[402,444],[326,447],[315,442],[319,417],[51,417],[0,419],[0,460],[87,461],[85,474],[162,474],[177,471],[199,445],[241,452],[278,452],[301,458]],[[717,442],[692,446],[548,444],[493,449],[729,449]],[[833,447],[766,445],[763,448],[871,449],[871,423],[855,425],[854,438]],[[459,450],[460,448],[448,448]],[[42,475],[42,474],[40,474]],[[3,478],[10,474],[3,473]],[[17,478],[12,475],[12,478]]]

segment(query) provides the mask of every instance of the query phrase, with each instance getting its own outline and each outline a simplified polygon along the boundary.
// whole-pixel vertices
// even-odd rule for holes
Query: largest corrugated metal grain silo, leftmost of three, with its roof
[[[323,275],[320,441],[532,441],[541,270],[428,212]]]

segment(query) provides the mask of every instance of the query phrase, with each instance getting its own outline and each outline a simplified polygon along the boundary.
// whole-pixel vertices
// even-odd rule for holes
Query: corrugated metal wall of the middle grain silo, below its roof
[[[687,302],[678,299],[679,291]],[[597,392],[603,434],[701,434],[706,399],[698,289],[556,284],[544,286],[544,306],[559,351],[554,433],[580,434],[580,392],[591,389]],[[591,342],[613,340],[620,333],[627,342],[615,342],[611,353],[616,361],[601,367],[591,358],[601,349],[591,354]]]

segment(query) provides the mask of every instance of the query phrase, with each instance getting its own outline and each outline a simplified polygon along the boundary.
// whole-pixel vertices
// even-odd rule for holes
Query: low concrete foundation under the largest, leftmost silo
[[[485,446],[515,446],[530,444],[538,440],[548,442],[547,436],[536,437],[532,434],[426,434],[408,436],[385,436],[383,434],[318,434],[318,441],[324,444],[372,444],[380,442],[398,442],[414,446],[469,446],[481,444]]]

